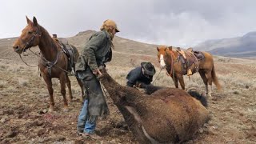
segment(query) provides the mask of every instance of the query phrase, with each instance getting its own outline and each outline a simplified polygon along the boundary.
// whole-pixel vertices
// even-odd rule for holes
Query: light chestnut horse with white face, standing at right
[[[158,62],[160,62],[161,68],[166,67],[166,71],[170,74],[170,77],[174,80],[174,85],[178,88],[178,82],[182,86],[182,89],[185,90],[185,83],[183,79],[184,67],[182,66],[181,55],[177,50],[173,50],[172,46],[159,46],[158,50]],[[205,86],[206,94],[211,96],[212,91],[212,82],[217,86],[218,90],[221,89],[220,84],[218,83],[218,78],[214,70],[214,58],[211,54],[202,52],[204,58],[201,60],[196,60],[191,66],[194,68],[192,74],[199,72]],[[194,56],[193,56],[194,57]],[[208,89],[208,84],[210,85],[210,90]]]

